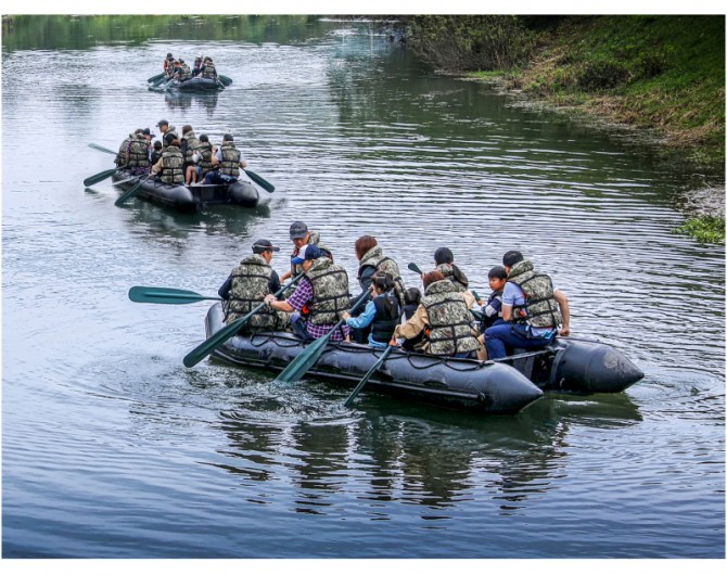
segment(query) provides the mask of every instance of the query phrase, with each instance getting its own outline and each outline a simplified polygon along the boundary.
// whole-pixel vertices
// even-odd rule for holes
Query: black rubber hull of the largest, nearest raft
[[[207,337],[225,327],[220,304],[209,308]],[[289,332],[235,335],[215,349],[226,362],[282,371],[305,345]],[[354,343],[329,343],[307,376],[354,387],[383,354]],[[600,342],[559,340],[537,352],[499,361],[441,358],[393,350],[371,376],[367,391],[424,404],[485,413],[512,414],[544,391],[617,393],[643,378],[620,352]]]

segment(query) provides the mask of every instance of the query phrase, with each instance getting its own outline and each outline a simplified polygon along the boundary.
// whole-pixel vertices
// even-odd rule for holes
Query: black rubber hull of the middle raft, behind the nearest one
[[[141,176],[141,179],[145,177]],[[132,176],[130,171],[125,169],[114,174],[112,180],[122,190],[128,190],[139,183],[139,177]],[[184,184],[163,183],[153,178],[143,182],[137,194],[139,197],[155,204],[182,212],[195,212],[214,205],[256,207],[260,201],[255,184],[244,179],[239,179],[232,183],[187,187]]]

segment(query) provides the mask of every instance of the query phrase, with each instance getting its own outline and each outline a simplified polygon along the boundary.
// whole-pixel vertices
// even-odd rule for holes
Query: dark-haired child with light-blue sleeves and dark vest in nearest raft
[[[401,317],[398,298],[393,293],[394,280],[386,272],[380,273],[373,278],[370,290],[373,299],[369,299],[358,317],[352,317],[348,311],[344,311],[341,317],[349,328],[360,330],[370,325],[368,343],[371,347],[388,347]]]

